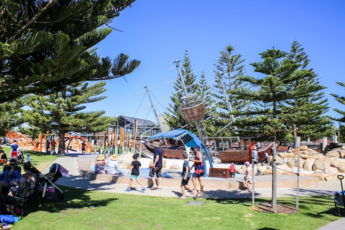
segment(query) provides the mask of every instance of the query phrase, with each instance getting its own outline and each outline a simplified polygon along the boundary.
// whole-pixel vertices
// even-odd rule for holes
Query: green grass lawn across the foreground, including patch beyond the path
[[[32,151],[31,151],[32,152]],[[56,157],[34,154],[37,168]],[[42,168],[41,168],[42,170]],[[332,196],[300,197],[296,214],[274,214],[250,209],[252,199],[205,199],[202,206],[187,205],[194,199],[119,194],[59,186],[66,203],[46,199],[44,206],[13,224],[13,230],[31,229],[282,229],[310,230],[339,219],[334,216]],[[255,199],[256,203],[270,198]],[[296,198],[278,198],[278,203],[296,206]],[[98,205],[106,207],[97,207]],[[91,210],[94,206],[96,210]]]

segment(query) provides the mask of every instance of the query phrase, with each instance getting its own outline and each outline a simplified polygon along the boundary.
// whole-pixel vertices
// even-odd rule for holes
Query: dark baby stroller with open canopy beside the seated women
[[[68,175],[68,170],[63,168],[60,164],[53,163],[49,168],[49,173],[40,174],[39,178],[39,204],[44,205],[46,199],[55,199],[58,198],[59,201],[65,203],[66,197],[63,196],[63,192],[59,187],[54,184],[59,178],[65,177]]]

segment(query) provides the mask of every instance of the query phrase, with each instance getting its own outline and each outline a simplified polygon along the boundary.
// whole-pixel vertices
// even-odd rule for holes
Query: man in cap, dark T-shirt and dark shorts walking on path
[[[152,166],[150,173],[149,173],[149,176],[151,177],[151,180],[153,182],[153,186],[152,186],[152,188],[150,188],[150,190],[162,189],[162,187],[161,187],[162,175],[160,174],[160,171],[163,167],[163,152],[159,148],[158,142],[154,142],[153,147],[155,148],[155,152],[153,153],[154,162],[153,162],[153,166]],[[156,184],[155,174],[157,176],[158,186]]]

